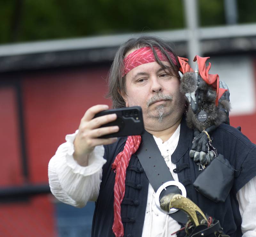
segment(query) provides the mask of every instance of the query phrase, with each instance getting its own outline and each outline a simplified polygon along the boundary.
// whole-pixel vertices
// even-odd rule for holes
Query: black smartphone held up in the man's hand
[[[120,109],[104,110],[97,113],[94,118],[107,114],[116,114],[115,121],[104,124],[100,127],[118,126],[119,131],[117,133],[111,133],[103,135],[100,138],[109,137],[123,137],[130,135],[140,135],[144,131],[144,124],[142,118],[142,110],[140,106],[125,107]]]

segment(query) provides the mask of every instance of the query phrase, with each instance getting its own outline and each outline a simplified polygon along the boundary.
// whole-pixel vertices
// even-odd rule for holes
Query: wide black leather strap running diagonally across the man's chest
[[[152,136],[147,131],[141,135],[140,147],[136,152],[140,164],[142,165],[149,183],[155,190],[165,182],[174,180],[172,174],[166,165],[164,158],[162,157],[156,142]],[[180,193],[180,189],[177,186],[168,186],[166,190],[162,191],[160,194],[160,199],[169,193]],[[177,211],[169,214],[174,220],[186,224],[188,222],[188,217],[183,211]]]

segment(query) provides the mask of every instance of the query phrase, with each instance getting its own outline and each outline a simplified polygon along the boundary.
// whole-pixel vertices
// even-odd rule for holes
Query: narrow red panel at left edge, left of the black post
[[[0,186],[23,182],[15,88],[0,88]]]

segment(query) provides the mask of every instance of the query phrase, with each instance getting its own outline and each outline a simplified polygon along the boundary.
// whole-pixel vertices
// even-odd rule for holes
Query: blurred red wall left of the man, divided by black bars
[[[29,181],[47,183],[50,158],[65,135],[78,128],[84,112],[107,103],[108,68],[58,70],[22,75]],[[23,184],[14,87],[0,88],[0,188]],[[51,195],[0,204],[0,236],[57,236]]]

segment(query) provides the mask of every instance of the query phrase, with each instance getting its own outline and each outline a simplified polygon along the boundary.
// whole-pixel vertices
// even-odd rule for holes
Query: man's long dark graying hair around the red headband
[[[123,108],[125,107],[125,102],[120,92],[125,93],[125,75],[122,77],[124,72],[124,56],[130,50],[137,50],[143,47],[150,47],[156,58],[156,62],[161,65],[164,71],[172,76],[179,77],[179,61],[177,54],[172,50],[170,45],[164,42],[162,39],[155,36],[140,36],[138,38],[131,38],[127,42],[123,43],[120,48],[117,50],[114,61],[111,65],[109,74],[108,74],[108,98],[112,99],[113,108]],[[157,57],[157,54],[153,47],[158,48],[163,55],[168,58],[170,66],[164,65]],[[176,60],[176,66],[170,56],[166,51],[171,52]]]

